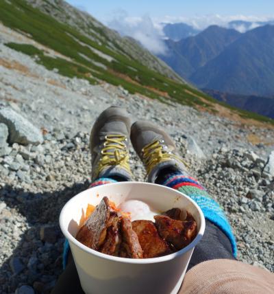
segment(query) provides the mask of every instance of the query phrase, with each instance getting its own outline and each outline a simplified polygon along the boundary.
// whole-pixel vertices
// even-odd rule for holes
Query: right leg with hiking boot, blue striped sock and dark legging
[[[206,231],[195,247],[190,267],[204,260],[236,256],[236,240],[220,205],[197,180],[188,175],[186,164],[169,135],[151,122],[132,125],[131,140],[147,170],[149,182],[166,185],[190,196],[206,217]],[[171,207],[172,208],[172,207]]]

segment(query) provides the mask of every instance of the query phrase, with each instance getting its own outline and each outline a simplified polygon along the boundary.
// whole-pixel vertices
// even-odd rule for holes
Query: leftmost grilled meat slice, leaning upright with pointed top
[[[99,249],[105,241],[108,227],[114,220],[113,215],[110,217],[111,212],[114,211],[108,197],[103,197],[95,211],[90,214],[86,223],[79,229],[76,239],[91,249]]]

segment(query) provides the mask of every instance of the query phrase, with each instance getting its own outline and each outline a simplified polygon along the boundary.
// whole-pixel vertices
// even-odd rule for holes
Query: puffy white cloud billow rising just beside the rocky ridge
[[[149,15],[129,17],[125,10],[119,10],[115,13],[112,21],[108,22],[108,27],[118,31],[123,36],[131,36],[153,54],[166,53],[162,27],[158,23],[153,23]]]

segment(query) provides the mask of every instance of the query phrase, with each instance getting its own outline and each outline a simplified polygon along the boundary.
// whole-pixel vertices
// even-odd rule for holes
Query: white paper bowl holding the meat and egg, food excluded
[[[74,236],[88,203],[97,205],[103,196],[108,196],[117,206],[125,200],[138,199],[161,212],[173,207],[184,208],[197,221],[197,237],[184,249],[159,258],[118,258],[92,250]],[[192,251],[203,236],[205,218],[198,205],[177,190],[152,183],[123,182],[100,185],[74,196],[62,209],[60,227],[69,240],[85,293],[175,294],[182,284]]]

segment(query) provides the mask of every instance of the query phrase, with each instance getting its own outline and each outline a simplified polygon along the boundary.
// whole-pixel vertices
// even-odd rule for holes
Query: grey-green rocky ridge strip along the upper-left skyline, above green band
[[[117,32],[105,27],[87,12],[77,10],[63,0],[27,0],[27,2],[45,14],[53,16],[56,20],[86,34],[88,38],[92,36],[93,41],[107,43],[114,52],[125,54],[129,58],[138,60],[145,67],[182,82],[182,78],[179,78],[173,70],[149,53],[147,49],[140,47],[133,38],[121,37]]]

